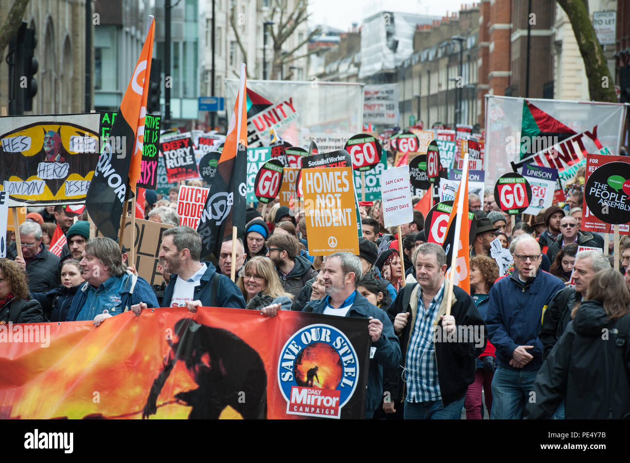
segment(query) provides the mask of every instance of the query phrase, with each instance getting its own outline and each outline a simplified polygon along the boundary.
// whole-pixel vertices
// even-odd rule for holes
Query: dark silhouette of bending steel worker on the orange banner
[[[199,385],[175,398],[192,409],[190,420],[217,420],[231,406],[244,419],[266,419],[267,374],[265,363],[254,348],[226,329],[212,328],[185,318],[175,323],[177,342],[168,340],[171,350],[164,369],[154,380],[142,411],[142,418],[157,411],[160,395],[175,363],[186,369]]]

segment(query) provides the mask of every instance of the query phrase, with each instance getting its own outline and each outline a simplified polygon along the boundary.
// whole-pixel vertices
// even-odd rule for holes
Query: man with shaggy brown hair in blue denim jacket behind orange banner
[[[140,301],[146,307],[158,306],[151,285],[126,271],[120,247],[111,238],[91,239],[85,245],[81,268],[85,283],[72,298],[66,321],[93,320],[99,326]]]

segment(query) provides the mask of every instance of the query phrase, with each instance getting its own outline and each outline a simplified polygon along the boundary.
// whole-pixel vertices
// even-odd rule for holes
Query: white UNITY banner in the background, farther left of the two
[[[239,81],[225,83],[229,107],[236,100]],[[363,84],[248,80],[246,109],[247,146],[269,144],[273,127],[280,139],[308,149],[311,132],[361,132]]]

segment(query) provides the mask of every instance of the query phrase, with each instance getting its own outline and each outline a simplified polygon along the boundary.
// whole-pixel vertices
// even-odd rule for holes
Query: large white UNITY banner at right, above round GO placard
[[[486,96],[486,186],[513,170],[510,163],[558,169],[563,183],[587,154],[618,154],[626,106],[618,103]]]

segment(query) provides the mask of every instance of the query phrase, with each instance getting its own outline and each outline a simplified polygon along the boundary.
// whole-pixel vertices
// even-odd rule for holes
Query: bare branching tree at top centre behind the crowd
[[[280,74],[282,74],[281,70],[284,64],[292,62],[296,59],[306,57],[315,52],[315,50],[312,50],[311,52],[307,52],[306,54],[294,56],[294,54],[298,52],[302,48],[302,46],[306,45],[306,43],[309,43],[312,37],[315,37],[316,35],[321,33],[321,30],[319,28],[311,31],[311,33],[309,33],[309,35],[304,40],[302,40],[302,42],[294,47],[294,49],[290,50],[289,52],[282,51],[282,46],[289,39],[289,37],[291,37],[297,26],[301,25],[309,18],[310,14],[307,14],[307,9],[308,0],[296,0],[294,9],[290,13],[288,13],[289,0],[273,0],[273,8],[264,19],[265,21],[273,21],[275,23],[273,27],[269,28],[269,35],[273,45],[270,79],[278,79]],[[232,12],[230,14],[230,24],[232,25],[234,35],[236,35],[236,42],[239,45],[239,49],[241,49],[241,53],[243,54],[243,61],[245,62],[245,64],[247,64],[247,50],[245,49],[241,40],[241,36],[238,31],[238,25],[236,24],[236,20],[234,18],[235,15],[236,13],[234,9],[232,9]],[[264,32],[265,31],[263,30],[263,33]]]

